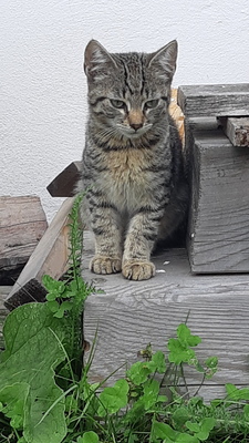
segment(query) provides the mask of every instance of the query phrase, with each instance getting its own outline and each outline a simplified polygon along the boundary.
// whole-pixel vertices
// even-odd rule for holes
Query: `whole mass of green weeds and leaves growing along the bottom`
[[[44,276],[45,303],[12,311],[0,353],[0,442],[9,443],[236,443],[249,441],[249,389],[226,384],[226,398],[206,404],[203,383],[218,359],[199,361],[200,338],[186,323],[167,352],[142,360],[112,387],[91,383],[94,343],[83,363],[83,309],[95,291],[81,277],[80,196],[71,212],[69,271],[63,281]],[[186,367],[203,374],[189,393]],[[112,374],[111,374],[112,375]]]

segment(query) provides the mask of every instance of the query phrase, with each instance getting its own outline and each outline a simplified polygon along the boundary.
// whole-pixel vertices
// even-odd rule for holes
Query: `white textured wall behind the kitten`
[[[81,158],[86,120],[82,55],[154,51],[177,38],[175,85],[249,81],[248,0],[2,0],[0,195],[37,194]]]

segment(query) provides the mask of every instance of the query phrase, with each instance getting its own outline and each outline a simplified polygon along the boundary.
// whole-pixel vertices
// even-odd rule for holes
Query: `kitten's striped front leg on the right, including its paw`
[[[129,223],[126,234],[122,272],[129,280],[147,280],[155,276],[155,265],[149,260],[157,238],[159,217],[155,213],[138,213]]]

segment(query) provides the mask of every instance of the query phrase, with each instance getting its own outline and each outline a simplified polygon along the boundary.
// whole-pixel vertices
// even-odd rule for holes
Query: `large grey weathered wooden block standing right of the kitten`
[[[235,147],[215,120],[188,120],[193,272],[249,272],[249,150]]]

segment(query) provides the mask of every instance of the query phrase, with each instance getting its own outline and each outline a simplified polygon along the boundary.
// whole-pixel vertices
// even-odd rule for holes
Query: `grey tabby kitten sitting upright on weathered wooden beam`
[[[89,122],[79,189],[95,236],[95,274],[155,275],[151,253],[183,224],[188,203],[181,144],[168,114],[177,42],[154,53],[85,49]]]

